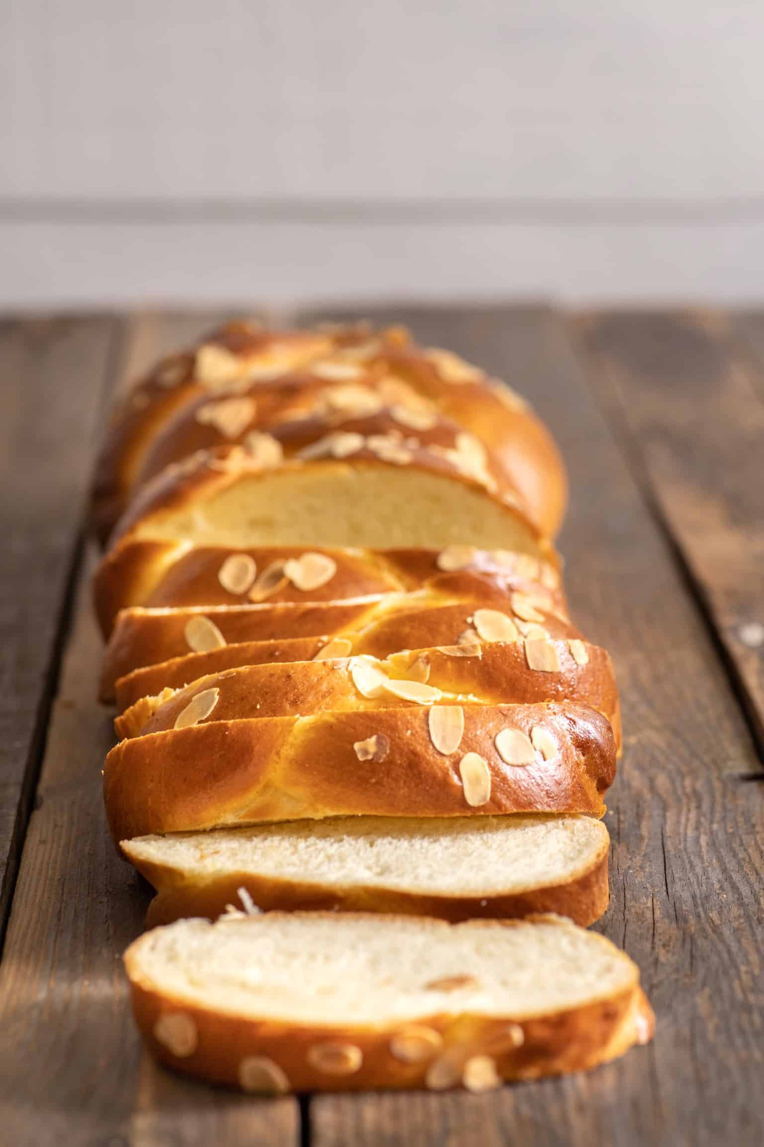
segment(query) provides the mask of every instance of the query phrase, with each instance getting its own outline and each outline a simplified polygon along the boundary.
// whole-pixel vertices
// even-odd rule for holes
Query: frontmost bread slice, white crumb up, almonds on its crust
[[[159,1060],[253,1092],[487,1091],[602,1063],[653,1027],[637,966],[559,916],[180,920],[125,967]]]

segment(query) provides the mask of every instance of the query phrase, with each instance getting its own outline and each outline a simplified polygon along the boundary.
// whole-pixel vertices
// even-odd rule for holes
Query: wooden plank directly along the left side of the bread
[[[208,318],[191,321],[203,328]],[[124,361],[134,358],[126,348]],[[102,645],[88,574],[79,580],[0,963],[0,1141],[294,1147],[296,1100],[259,1102],[205,1087],[141,1051],[121,954],[149,897],[117,858],[103,817],[101,767],[113,738],[111,715],[95,700]]]

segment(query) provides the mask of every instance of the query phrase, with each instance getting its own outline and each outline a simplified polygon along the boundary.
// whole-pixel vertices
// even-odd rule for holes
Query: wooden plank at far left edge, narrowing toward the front
[[[103,317],[0,323],[0,938],[115,330]]]

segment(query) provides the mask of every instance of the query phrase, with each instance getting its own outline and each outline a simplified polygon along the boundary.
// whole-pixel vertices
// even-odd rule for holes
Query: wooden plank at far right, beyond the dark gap
[[[575,326],[764,750],[764,366],[720,314],[605,313]]]

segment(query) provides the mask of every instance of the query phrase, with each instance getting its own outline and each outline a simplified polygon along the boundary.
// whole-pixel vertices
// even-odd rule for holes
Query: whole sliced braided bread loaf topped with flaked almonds
[[[233,323],[128,398],[94,496],[96,529],[111,531],[94,579],[109,638],[101,690],[117,699],[123,738],[104,766],[107,816],[158,889],[151,922],[229,908],[212,929],[179,924],[127,954],[139,1024],[162,1059],[246,1090],[340,1076],[481,1090],[488,1075],[585,1067],[649,1037],[630,961],[549,921],[490,926],[491,944],[522,937],[519,951],[567,977],[567,1005],[550,991],[535,1019],[521,993],[507,1002],[481,989],[481,1014],[504,1027],[511,1015],[513,1047],[534,1045],[519,1056],[495,1054],[491,1024],[465,997],[458,1023],[441,1002],[427,1028],[442,1055],[391,1059],[399,1012],[385,999],[375,1037],[361,1023],[333,1074],[318,1052],[307,1067],[286,1056],[284,1040],[339,1046],[355,1022],[349,996],[329,1017],[302,1001],[276,1008],[271,1038],[246,993],[218,983],[236,898],[247,912],[253,898],[341,910],[333,939],[315,911],[269,911],[262,929],[239,921],[237,953],[255,933],[289,951],[290,936],[329,929],[331,968],[344,928],[361,977],[387,928],[444,950],[473,936],[425,914],[542,910],[588,924],[604,912],[598,818],[619,697],[607,653],[568,618],[550,541],[564,501],[556,447],[522,400],[396,328]],[[375,920],[384,912],[419,919]],[[196,945],[204,985],[189,996],[178,977]],[[611,961],[596,1000],[589,959]],[[534,1050],[549,1024],[559,1035]]]

